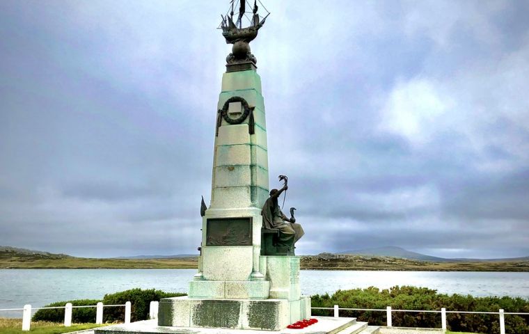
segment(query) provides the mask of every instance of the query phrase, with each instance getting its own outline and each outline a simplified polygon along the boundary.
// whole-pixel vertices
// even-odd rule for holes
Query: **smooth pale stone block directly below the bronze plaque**
[[[202,252],[205,280],[250,280],[253,246],[203,246]]]

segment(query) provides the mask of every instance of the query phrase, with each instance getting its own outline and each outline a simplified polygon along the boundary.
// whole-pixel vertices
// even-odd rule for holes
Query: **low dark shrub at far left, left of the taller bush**
[[[58,301],[56,303],[48,304],[45,307],[64,306],[66,303],[72,303],[73,306],[95,305],[98,302],[100,302],[100,300],[78,299],[76,301]],[[33,315],[33,321],[63,322],[64,308],[38,310]],[[95,322],[95,308],[74,308],[72,310],[72,322],[76,324]]]

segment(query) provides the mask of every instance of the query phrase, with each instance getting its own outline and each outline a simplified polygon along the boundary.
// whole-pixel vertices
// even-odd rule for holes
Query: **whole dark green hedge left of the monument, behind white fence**
[[[115,294],[105,294],[103,300],[79,299],[75,301],[58,301],[45,307],[64,306],[72,303],[74,306],[96,305],[102,301],[104,305],[123,305],[127,301],[132,303],[131,321],[145,320],[149,316],[149,306],[151,301],[159,301],[162,298],[185,296],[185,294],[163,292],[156,289],[130,289]],[[123,322],[125,321],[125,307],[104,308],[104,321]],[[33,321],[64,321],[64,309],[38,310],[33,315]],[[72,310],[72,322],[76,324],[95,322],[95,308],[74,308]]]

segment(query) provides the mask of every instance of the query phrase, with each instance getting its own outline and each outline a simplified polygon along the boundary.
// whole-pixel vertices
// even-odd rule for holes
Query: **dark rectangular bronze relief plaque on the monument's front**
[[[252,246],[252,217],[210,218],[206,246]]]

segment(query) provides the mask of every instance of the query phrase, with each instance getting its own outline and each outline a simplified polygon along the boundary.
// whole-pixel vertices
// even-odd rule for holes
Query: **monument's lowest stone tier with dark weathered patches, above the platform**
[[[158,325],[278,331],[310,318],[310,298],[286,299],[161,299]]]

